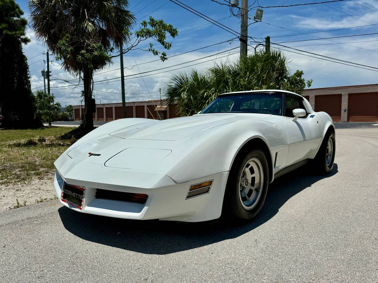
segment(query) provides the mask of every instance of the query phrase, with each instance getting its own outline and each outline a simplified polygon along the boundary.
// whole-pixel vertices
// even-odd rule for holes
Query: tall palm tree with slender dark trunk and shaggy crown
[[[93,71],[111,63],[108,52],[130,39],[135,17],[126,9],[128,4],[128,0],[29,1],[36,38],[63,60],[66,71],[83,78],[85,128],[93,128]]]

